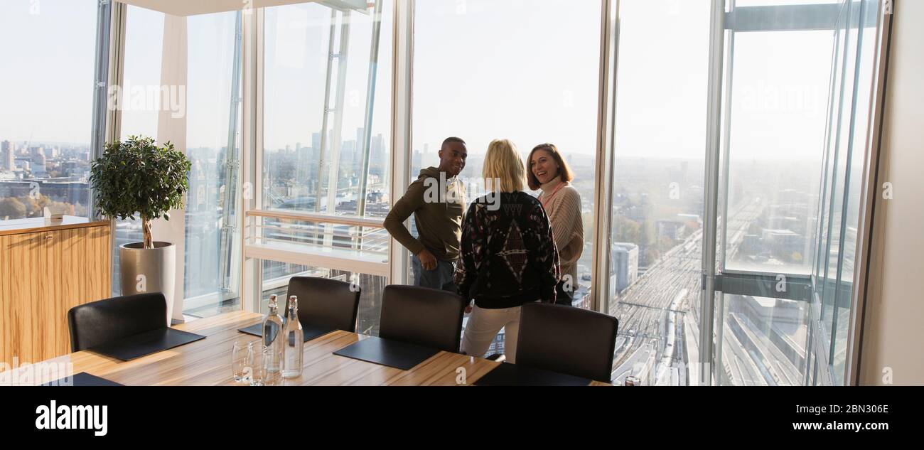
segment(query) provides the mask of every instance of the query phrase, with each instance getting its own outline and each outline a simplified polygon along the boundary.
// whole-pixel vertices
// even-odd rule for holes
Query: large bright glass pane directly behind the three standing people
[[[411,180],[438,166],[443,140],[457,136],[468,143],[460,179],[472,201],[492,140],[513,141],[524,161],[536,145],[555,144],[581,198],[573,304],[582,307],[593,258],[601,10],[597,0],[427,0],[414,20]]]

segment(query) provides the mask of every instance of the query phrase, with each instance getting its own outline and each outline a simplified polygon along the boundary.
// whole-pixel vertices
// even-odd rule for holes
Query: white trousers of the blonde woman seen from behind
[[[483,358],[488,347],[491,347],[494,336],[503,328],[504,355],[508,362],[516,363],[519,311],[518,306],[501,310],[473,307],[471,315],[468,316],[465,334],[462,336],[462,351],[466,355]]]

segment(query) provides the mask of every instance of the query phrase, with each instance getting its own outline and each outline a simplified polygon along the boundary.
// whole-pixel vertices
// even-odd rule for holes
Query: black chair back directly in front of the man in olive
[[[385,286],[379,337],[458,353],[466,303],[443,290]]]

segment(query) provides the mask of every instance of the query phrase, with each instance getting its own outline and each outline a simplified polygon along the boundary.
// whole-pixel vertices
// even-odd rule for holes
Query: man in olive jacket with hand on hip
[[[440,166],[420,171],[404,197],[385,217],[385,229],[414,255],[415,286],[456,292],[454,263],[462,238],[465,189],[456,178],[465,168],[468,150],[464,140],[448,138],[440,149]],[[404,222],[414,214],[419,237]]]

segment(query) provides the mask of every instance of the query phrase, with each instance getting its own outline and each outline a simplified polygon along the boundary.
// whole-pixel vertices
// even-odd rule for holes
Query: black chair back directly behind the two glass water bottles
[[[359,312],[359,286],[313,276],[293,276],[289,280],[288,298],[298,296],[298,321],[356,333]],[[283,312],[286,315],[288,310]]]

